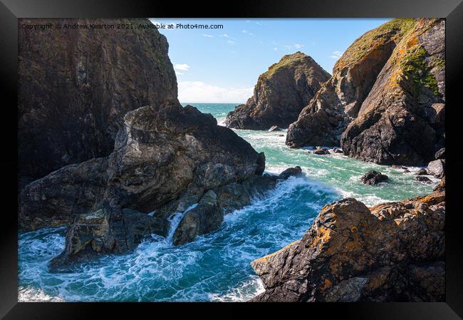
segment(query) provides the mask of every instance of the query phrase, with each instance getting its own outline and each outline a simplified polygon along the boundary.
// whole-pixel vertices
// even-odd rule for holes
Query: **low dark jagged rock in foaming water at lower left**
[[[167,220],[118,207],[78,215],[66,234],[66,249],[50,262],[52,270],[69,267],[99,254],[135,249],[148,234],[167,235]]]

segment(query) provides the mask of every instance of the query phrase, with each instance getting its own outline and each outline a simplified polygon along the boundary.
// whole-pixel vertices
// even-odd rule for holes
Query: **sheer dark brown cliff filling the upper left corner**
[[[147,19],[55,21],[150,24]],[[128,111],[178,103],[168,43],[155,29],[19,28],[18,33],[20,188],[65,165],[109,155]]]

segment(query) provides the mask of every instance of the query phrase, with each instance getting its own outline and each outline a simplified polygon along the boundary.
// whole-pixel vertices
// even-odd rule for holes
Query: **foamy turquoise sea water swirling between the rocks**
[[[235,104],[190,103],[219,124]],[[194,242],[172,247],[150,237],[130,254],[109,255],[71,273],[48,272],[48,260],[64,247],[66,229],[19,235],[20,301],[246,301],[263,291],[249,263],[299,239],[323,205],[356,197],[366,205],[432,191],[413,172],[361,162],[344,155],[313,155],[284,145],[284,131],[236,130],[266,154],[266,171],[300,165],[304,177],[281,182],[264,199],[225,217],[222,227]],[[365,186],[360,177],[379,170],[390,182]],[[433,179],[437,182],[437,180]]]

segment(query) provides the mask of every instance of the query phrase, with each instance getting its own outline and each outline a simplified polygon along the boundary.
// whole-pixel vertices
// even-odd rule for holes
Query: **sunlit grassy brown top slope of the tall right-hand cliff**
[[[359,61],[373,48],[390,39],[397,41],[397,38],[401,38],[415,26],[415,22],[416,20],[412,18],[397,18],[368,31],[350,45],[343,56],[336,62],[334,69],[340,70]]]

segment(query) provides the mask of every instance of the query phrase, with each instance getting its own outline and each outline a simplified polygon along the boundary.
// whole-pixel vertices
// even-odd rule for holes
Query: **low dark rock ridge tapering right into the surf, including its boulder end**
[[[192,242],[197,236],[219,229],[224,215],[251,204],[251,198],[265,195],[279,180],[301,176],[301,167],[289,167],[279,175],[251,175],[241,183],[207,191],[196,207],[184,214],[175,230],[173,244]]]

